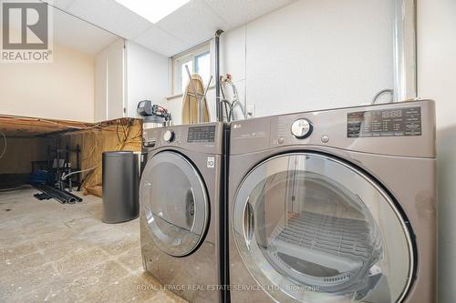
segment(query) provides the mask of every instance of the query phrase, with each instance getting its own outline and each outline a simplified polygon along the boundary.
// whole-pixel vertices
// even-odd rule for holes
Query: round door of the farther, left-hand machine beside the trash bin
[[[148,161],[140,181],[140,206],[154,243],[182,257],[202,241],[209,222],[209,201],[202,177],[180,154],[164,151]]]

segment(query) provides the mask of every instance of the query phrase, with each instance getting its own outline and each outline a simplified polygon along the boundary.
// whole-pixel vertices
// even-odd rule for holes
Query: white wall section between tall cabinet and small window
[[[141,45],[127,42],[127,116],[138,116],[136,107],[141,100],[164,105],[169,93],[168,60]]]

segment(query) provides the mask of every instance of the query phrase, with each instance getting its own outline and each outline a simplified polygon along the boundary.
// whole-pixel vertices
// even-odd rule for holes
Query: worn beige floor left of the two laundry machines
[[[0,302],[185,302],[145,273],[139,219],[101,222],[101,199],[0,192]]]

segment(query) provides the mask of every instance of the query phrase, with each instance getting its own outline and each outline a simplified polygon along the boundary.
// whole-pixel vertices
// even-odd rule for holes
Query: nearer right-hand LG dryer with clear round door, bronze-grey
[[[233,302],[436,298],[433,101],[236,121]]]

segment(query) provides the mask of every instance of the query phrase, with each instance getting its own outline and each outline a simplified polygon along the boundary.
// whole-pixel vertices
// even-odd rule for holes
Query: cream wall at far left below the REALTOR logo
[[[93,122],[94,57],[54,45],[54,62],[0,64],[0,114]]]

